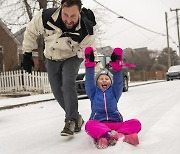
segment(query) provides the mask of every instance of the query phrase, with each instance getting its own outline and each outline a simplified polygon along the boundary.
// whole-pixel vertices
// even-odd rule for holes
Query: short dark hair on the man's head
[[[79,10],[81,10],[82,2],[81,0],[62,0],[61,7],[71,7],[73,5],[77,5]]]

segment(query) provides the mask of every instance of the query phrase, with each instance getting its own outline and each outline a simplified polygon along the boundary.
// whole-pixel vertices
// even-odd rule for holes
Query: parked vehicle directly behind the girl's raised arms
[[[112,72],[111,67],[109,66],[109,61],[111,58],[109,56],[104,56],[102,54],[98,55],[99,60],[102,63],[102,66],[104,68],[107,68],[110,72]],[[128,69],[126,67],[123,67],[122,69],[122,74],[123,74],[123,92],[128,91],[128,81],[129,81],[129,73]],[[79,95],[86,94],[85,91],[85,67],[84,63],[82,62],[80,65],[80,69],[78,72],[78,76],[76,79],[76,90]]]

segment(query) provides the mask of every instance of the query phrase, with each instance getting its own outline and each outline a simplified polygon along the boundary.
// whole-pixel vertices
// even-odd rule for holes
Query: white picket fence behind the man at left
[[[50,93],[47,72],[33,71],[29,74],[22,70],[16,70],[0,73],[0,93],[20,91]]]

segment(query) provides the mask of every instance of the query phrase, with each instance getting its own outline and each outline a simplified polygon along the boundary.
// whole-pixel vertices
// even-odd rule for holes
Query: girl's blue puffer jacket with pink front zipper
[[[104,92],[98,88],[94,68],[86,68],[86,93],[91,101],[90,120],[122,122],[117,103],[123,90],[122,72],[113,72],[113,83]]]

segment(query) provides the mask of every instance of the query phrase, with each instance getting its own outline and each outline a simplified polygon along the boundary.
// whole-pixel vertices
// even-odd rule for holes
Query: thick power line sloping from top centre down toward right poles
[[[113,10],[109,9],[108,7],[102,5],[101,3],[97,2],[96,0],[93,0],[93,1],[96,2],[97,4],[101,5],[101,6],[104,7],[106,10],[110,11],[111,13],[117,15],[118,18],[124,19],[124,20],[132,23],[133,25],[136,25],[136,26],[138,26],[138,27],[140,27],[140,28],[142,28],[142,29],[144,29],[144,30],[147,30],[147,31],[149,31],[149,32],[152,32],[152,33],[155,33],[155,34],[158,34],[158,35],[161,35],[161,36],[166,36],[166,34],[158,33],[158,32],[155,32],[155,31],[153,31],[153,30],[150,30],[150,29],[148,29],[148,28],[146,28],[146,27],[143,27],[143,26],[141,26],[141,25],[139,25],[139,24],[136,24],[135,22],[133,22],[133,21],[131,21],[131,20],[129,20],[129,19],[127,19],[127,18],[119,15],[119,14],[116,13],[115,11],[113,11]]]

